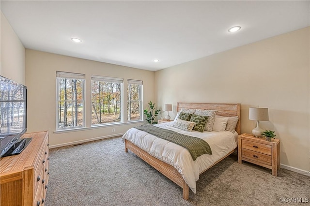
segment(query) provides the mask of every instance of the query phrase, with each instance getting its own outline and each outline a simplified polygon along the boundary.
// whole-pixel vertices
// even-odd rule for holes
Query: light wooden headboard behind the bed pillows
[[[177,103],[177,111],[181,108],[187,109],[210,109],[216,110],[217,115],[224,117],[238,116],[239,120],[236,125],[235,131],[241,134],[241,111],[240,103]]]

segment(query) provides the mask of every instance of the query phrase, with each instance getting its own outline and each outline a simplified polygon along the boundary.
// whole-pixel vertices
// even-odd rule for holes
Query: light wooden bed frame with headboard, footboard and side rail
[[[217,110],[217,115],[220,115],[220,116],[224,116],[224,117],[238,116],[239,120],[235,128],[235,131],[238,132],[238,134],[241,134],[240,103],[235,103],[235,104],[233,103],[177,103],[177,111],[180,111],[181,108],[210,109],[210,110]],[[234,148],[226,156],[224,156],[223,158],[221,158],[220,160],[212,164],[209,168],[211,168],[212,166],[214,166],[215,164],[217,164],[218,162],[222,161],[227,156],[232,154],[236,148]],[[188,199],[189,197],[188,185],[186,184],[182,175],[173,166],[153,157],[152,155],[148,154],[144,150],[140,149],[140,147],[137,147],[136,145],[134,145],[133,143],[125,139],[125,152],[128,152],[128,149],[130,149],[133,153],[135,153],[142,160],[150,164],[156,170],[158,170],[161,174],[168,177],[169,179],[171,179],[171,181],[179,185],[183,189],[183,198],[185,200]],[[206,170],[208,170],[209,168],[207,168]],[[203,172],[205,172],[206,170],[204,170]]]

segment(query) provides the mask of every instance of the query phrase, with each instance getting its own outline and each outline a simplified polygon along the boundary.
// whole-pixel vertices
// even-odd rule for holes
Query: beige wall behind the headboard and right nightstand
[[[248,108],[269,108],[261,127],[276,131],[280,162],[310,170],[310,28],[296,30],[155,72],[159,104],[241,103],[242,132],[255,121]]]

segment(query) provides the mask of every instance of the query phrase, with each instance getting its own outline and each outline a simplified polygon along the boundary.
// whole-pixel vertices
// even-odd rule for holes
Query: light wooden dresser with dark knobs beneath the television
[[[1,206],[44,206],[49,174],[48,131],[27,133],[29,145],[0,159]]]

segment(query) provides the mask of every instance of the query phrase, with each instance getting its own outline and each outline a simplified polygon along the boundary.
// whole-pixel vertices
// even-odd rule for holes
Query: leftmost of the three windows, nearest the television
[[[56,72],[56,130],[84,127],[85,74]]]

